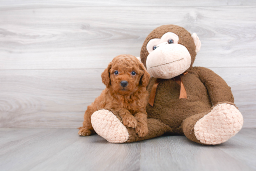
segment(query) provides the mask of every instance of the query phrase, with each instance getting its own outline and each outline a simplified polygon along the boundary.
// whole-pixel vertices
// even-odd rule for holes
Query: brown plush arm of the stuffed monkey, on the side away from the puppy
[[[193,67],[197,72],[199,79],[206,86],[213,105],[219,102],[234,103],[234,97],[231,88],[215,72],[204,67]]]

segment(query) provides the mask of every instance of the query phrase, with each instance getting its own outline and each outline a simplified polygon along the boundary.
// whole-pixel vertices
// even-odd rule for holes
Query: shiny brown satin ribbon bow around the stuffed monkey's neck
[[[184,72],[182,73],[183,75],[187,74],[188,72]],[[154,101],[155,101],[155,92],[156,92],[156,88],[157,85],[162,81],[163,79],[156,79],[155,83],[152,87],[152,90],[150,92],[149,95],[149,99],[148,99],[148,103],[149,105],[153,106],[154,105]],[[180,77],[180,75],[176,76],[173,78],[173,80],[181,86],[181,92],[180,92],[180,99],[187,99],[187,92],[185,90],[184,84],[182,82],[182,78]]]

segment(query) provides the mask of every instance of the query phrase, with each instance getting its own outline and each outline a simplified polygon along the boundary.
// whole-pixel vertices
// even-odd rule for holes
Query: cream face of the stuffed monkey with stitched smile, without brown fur
[[[179,36],[170,32],[165,33],[161,39],[149,40],[146,65],[151,76],[171,79],[189,69],[190,53],[185,46],[178,44],[178,41]]]

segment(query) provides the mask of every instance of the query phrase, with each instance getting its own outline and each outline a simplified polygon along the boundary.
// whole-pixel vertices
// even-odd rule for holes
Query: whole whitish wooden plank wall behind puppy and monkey
[[[256,128],[254,0],[0,0],[0,127],[81,126],[108,62],[140,56],[165,24],[197,33],[194,66],[225,79]]]

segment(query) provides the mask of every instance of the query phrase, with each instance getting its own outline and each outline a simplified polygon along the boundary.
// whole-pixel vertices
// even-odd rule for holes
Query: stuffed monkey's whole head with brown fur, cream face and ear
[[[189,71],[199,52],[197,35],[180,26],[165,25],[152,31],[141,48],[141,61],[154,78],[171,79]]]

